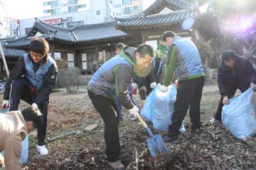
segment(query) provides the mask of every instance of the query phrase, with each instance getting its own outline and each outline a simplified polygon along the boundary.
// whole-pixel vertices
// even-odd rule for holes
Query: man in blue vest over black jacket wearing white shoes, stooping
[[[44,38],[31,40],[30,52],[20,57],[5,84],[2,108],[18,110],[20,99],[39,109],[44,124],[37,130],[37,151],[48,155],[44,145],[49,96],[56,85],[57,65],[49,55],[49,44]]]

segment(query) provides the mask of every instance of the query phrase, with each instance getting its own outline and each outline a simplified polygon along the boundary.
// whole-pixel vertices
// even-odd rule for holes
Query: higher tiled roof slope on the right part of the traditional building
[[[181,22],[188,17],[200,18],[205,15],[209,15],[213,13],[213,11],[207,11],[204,14],[200,14],[198,10],[179,10],[174,11],[172,13],[166,14],[157,14],[151,15],[147,17],[137,17],[137,18],[129,18],[127,20],[120,20],[116,27],[120,29],[121,27],[134,27],[134,26],[146,26],[146,25],[162,25],[162,24],[172,24],[175,22]]]

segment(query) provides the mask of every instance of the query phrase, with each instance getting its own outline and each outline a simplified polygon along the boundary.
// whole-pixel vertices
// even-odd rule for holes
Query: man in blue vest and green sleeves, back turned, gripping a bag
[[[192,41],[176,36],[172,31],[164,32],[162,40],[169,49],[161,92],[168,91],[175,69],[179,81],[179,89],[172,115],[172,125],[169,126],[168,134],[163,139],[165,142],[179,143],[179,127],[186,116],[188,108],[192,131],[200,131],[200,102],[204,87],[204,69],[199,52]]]

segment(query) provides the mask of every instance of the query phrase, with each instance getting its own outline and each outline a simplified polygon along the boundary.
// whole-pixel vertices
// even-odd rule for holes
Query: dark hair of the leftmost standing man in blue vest
[[[48,55],[49,43],[44,38],[33,38],[30,41],[30,51],[41,53],[42,55]]]

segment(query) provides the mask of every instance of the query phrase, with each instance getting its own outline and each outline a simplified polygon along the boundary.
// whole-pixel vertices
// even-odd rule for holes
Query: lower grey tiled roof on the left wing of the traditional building
[[[24,36],[13,41],[8,41],[6,47],[15,48],[28,46],[31,36],[35,36],[36,32],[43,34],[42,38],[51,40],[65,41],[66,43],[88,43],[90,41],[104,41],[109,38],[124,38],[128,34],[117,30],[116,22],[106,22],[102,24],[79,25],[69,29],[56,27],[46,24],[41,20],[35,19],[35,24]]]

